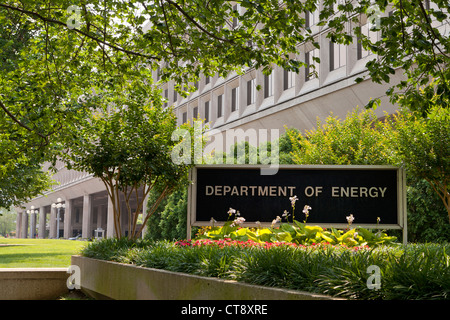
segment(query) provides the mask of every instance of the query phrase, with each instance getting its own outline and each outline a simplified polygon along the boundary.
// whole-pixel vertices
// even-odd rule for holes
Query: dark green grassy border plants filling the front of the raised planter
[[[251,241],[151,242],[105,239],[82,255],[200,276],[323,293],[349,299],[450,299],[449,244],[377,248]],[[368,268],[380,269],[370,289]]]

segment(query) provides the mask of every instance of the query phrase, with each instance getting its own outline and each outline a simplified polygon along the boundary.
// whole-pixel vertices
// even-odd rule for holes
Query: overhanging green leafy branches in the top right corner
[[[368,77],[376,83],[389,83],[390,75],[401,68],[404,75],[386,94],[393,103],[425,116],[436,95],[443,107],[448,107],[450,95],[448,39],[448,1],[433,0],[361,0],[324,1],[319,25],[328,25],[332,41],[350,43],[355,37],[345,29],[351,23],[354,35],[362,46],[377,56],[367,62]],[[337,9],[337,11],[336,11]],[[367,20],[364,19],[367,17]],[[365,21],[364,21],[365,20]],[[378,40],[362,32],[368,23],[371,31],[380,31]],[[356,81],[362,81],[358,78]],[[378,99],[371,100],[373,106]]]

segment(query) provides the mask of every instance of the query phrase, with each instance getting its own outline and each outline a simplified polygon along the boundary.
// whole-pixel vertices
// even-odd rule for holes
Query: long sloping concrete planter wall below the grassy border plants
[[[255,286],[180,272],[72,256],[81,290],[116,300],[338,300],[325,295]]]

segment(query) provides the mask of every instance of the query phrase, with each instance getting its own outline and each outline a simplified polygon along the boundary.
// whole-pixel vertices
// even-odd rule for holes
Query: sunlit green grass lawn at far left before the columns
[[[85,241],[0,238],[0,268],[65,268]]]

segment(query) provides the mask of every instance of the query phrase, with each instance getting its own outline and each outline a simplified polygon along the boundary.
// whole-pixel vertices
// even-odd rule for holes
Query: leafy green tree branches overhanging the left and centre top
[[[298,68],[288,53],[304,39],[303,19],[295,14],[303,4],[241,5],[244,16],[227,1],[0,3],[0,142],[7,146],[1,178],[22,188],[13,179],[18,162],[36,166],[55,157],[98,108],[100,92],[121,92],[139,80],[156,90],[151,73],[162,62],[162,80],[175,79],[180,91],[200,72],[224,75],[245,65],[268,70],[281,62]],[[45,187],[33,186],[28,196]]]

